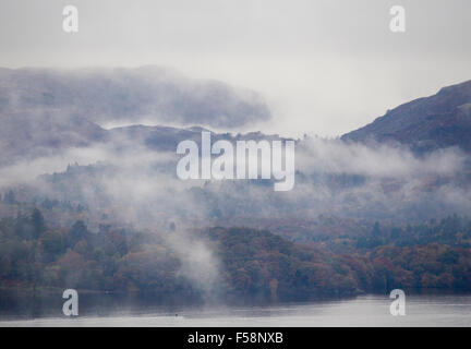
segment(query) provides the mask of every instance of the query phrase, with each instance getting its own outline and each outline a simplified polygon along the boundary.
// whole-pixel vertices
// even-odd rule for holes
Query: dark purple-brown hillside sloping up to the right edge
[[[471,81],[401,105],[341,139],[398,143],[418,154],[451,146],[471,152]]]

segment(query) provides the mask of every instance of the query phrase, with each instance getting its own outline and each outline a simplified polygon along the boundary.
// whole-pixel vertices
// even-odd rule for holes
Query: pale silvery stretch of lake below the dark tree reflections
[[[0,326],[471,326],[471,296],[409,296],[406,316],[389,313],[391,300],[363,296],[352,300],[271,306],[154,309],[140,306],[85,314],[76,318],[49,316],[13,318]]]

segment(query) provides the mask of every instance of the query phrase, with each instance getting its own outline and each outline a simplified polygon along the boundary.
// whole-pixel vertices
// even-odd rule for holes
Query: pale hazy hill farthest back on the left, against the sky
[[[169,69],[0,69],[0,116],[59,110],[88,121],[233,128],[267,120],[255,92]]]

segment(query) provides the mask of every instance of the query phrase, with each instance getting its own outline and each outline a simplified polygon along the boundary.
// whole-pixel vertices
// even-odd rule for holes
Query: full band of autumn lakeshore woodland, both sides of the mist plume
[[[404,228],[412,231],[411,240],[402,233],[391,234],[394,227],[375,225],[365,237],[376,234],[383,239],[381,243],[363,246],[361,237],[340,238],[343,242],[350,239],[348,253],[301,245],[269,231],[246,228],[201,229],[192,237],[205,241],[220,262],[214,293],[222,298],[301,301],[394,288],[471,291],[464,220],[455,226],[461,218],[450,219],[427,224],[434,242],[425,237],[422,226]],[[90,232],[81,220],[69,228],[52,226],[39,209],[0,219],[2,288],[205,297],[181,273],[183,261],[166,242],[168,234],[179,233],[176,229],[138,232],[100,226],[98,232]],[[406,238],[411,242],[404,244]],[[450,243],[439,243],[442,238]],[[330,242],[345,246],[337,240]]]

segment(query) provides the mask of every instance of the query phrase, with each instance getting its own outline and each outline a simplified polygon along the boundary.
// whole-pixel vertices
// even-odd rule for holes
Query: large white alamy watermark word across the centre
[[[210,132],[203,131],[201,147],[200,152],[190,140],[177,146],[177,154],[185,155],[177,164],[180,179],[274,179],[275,191],[294,186],[294,141],[237,141],[234,146],[219,140],[212,144]]]

